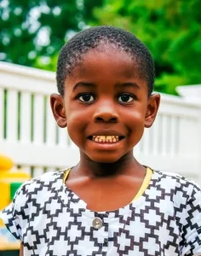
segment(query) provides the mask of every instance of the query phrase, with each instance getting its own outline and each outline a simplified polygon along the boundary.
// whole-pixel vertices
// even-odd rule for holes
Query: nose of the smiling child
[[[94,114],[94,121],[116,123],[118,122],[118,113],[112,104],[102,103],[99,107],[97,106],[97,110]]]

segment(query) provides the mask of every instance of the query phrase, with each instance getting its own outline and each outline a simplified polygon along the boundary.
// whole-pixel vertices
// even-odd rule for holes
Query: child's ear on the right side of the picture
[[[150,128],[157,116],[160,105],[160,95],[158,93],[152,94],[147,102],[145,127]]]

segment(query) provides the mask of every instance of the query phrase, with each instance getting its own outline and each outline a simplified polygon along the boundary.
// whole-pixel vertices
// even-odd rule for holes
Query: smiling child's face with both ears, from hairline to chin
[[[51,104],[81,157],[112,163],[133,157],[144,127],[155,119],[159,96],[148,97],[147,91],[129,55],[92,50],[66,78],[65,96],[51,96]]]

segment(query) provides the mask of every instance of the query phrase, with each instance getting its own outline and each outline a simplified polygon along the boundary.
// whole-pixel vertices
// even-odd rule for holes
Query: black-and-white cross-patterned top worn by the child
[[[62,182],[65,171],[26,182],[0,213],[25,256],[201,255],[201,189],[153,171],[143,195],[112,212],[92,212]],[[100,220],[100,229],[93,226]]]

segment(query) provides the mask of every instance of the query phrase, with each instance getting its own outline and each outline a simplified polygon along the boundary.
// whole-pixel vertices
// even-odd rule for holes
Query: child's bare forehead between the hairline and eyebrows
[[[104,84],[104,87],[106,84],[134,82],[147,90],[146,80],[141,79],[139,73],[138,62],[119,49],[93,49],[83,55],[82,61],[67,76],[66,84],[80,81]]]

